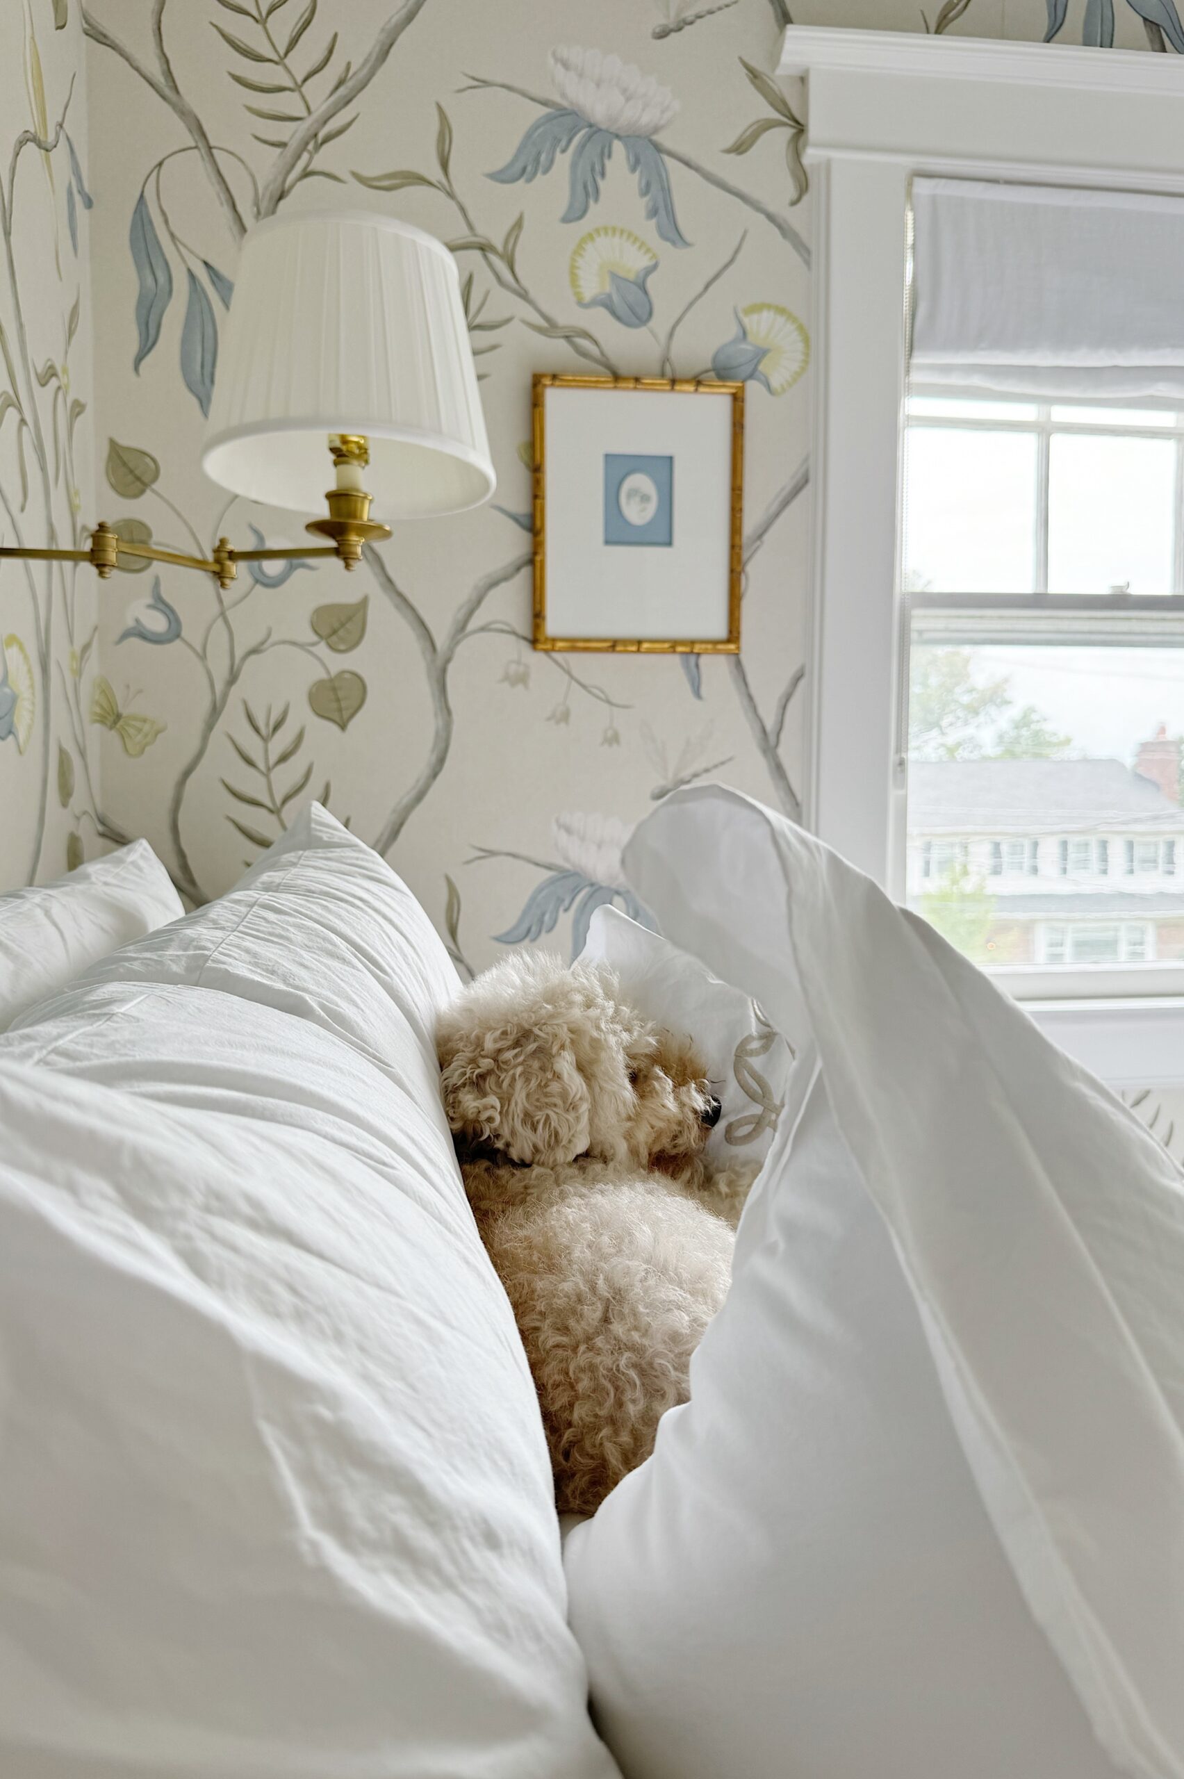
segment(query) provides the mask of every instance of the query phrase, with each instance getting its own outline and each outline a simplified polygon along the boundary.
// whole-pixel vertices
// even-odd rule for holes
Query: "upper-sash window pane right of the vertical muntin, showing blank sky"
[[[1172,592],[1175,443],[1054,432],[1049,591]]]

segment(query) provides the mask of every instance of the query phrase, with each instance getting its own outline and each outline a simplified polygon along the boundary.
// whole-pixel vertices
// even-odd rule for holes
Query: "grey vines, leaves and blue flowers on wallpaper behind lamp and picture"
[[[276,213],[306,180],[347,183],[343,171],[325,164],[325,149],[345,137],[357,121],[357,101],[427,4],[428,0],[405,0],[377,30],[368,50],[352,62],[341,55],[340,32],[327,30],[318,20],[318,0],[308,0],[304,7],[299,7],[295,0],[219,0],[220,9],[228,14],[226,23],[215,21],[215,30],[228,52],[226,71],[242,89],[252,139],[272,155],[261,171],[256,171],[238,149],[212,141],[197,107],[183,91],[164,36],[167,0],[155,0],[151,11],[155,66],[140,60],[132,44],[119,39],[94,12],[84,9],[87,36],[101,48],[119,55],[172,110],[188,135],[183,148],[171,149],[148,167],[130,219],[130,247],[137,272],[137,372],[156,349],[165,313],[178,295],[178,285],[183,283],[185,320],[180,368],[188,393],[204,413],[217,370],[217,315],[219,308],[229,306],[233,299],[233,283],[219,267],[217,254],[212,249],[194,246],[187,238],[181,219],[171,213],[162,180],[167,162],[178,157],[197,160],[235,238],[244,235],[249,221]],[[775,4],[773,11],[779,14],[784,7]],[[667,23],[672,27],[690,23],[690,16],[686,12],[670,14]],[[626,173],[635,178],[645,201],[645,215],[654,224],[654,233],[661,242],[661,249],[658,249],[636,231],[615,222],[578,228],[569,258],[574,313],[555,313],[528,283],[523,270],[526,212],[516,217],[501,238],[494,238],[482,226],[478,199],[462,192],[453,174],[457,123],[443,105],[436,109],[437,125],[430,171],[400,167],[370,173],[357,169],[352,173],[352,180],[382,194],[420,187],[439,196],[439,231],[448,238],[448,246],[460,262],[469,262],[462,276],[462,294],[480,375],[496,374],[498,334],[516,320],[542,338],[562,343],[576,359],[594,365],[606,375],[617,370],[612,349],[613,327],[645,329],[654,342],[656,365],[672,375],[676,374],[679,329],[702,297],[738,263],[748,228],[773,229],[786,249],[809,265],[809,247],[786,213],[805,192],[800,160],[802,123],[777,84],[750,62],[741,62],[740,71],[748,91],[759,101],[759,116],[732,142],[720,144],[720,149],[740,160],[761,151],[761,144],[768,137],[782,144],[786,201],[782,208],[775,208],[732,178],[725,178],[700,157],[683,149],[665,133],[677,114],[677,101],[654,76],[642,75],[617,55],[580,48],[553,50],[549,69],[553,96],[539,96],[510,82],[482,75],[469,76],[460,87],[460,103],[471,93],[501,91],[539,112],[537,117],[528,119],[508,158],[489,171],[489,178],[501,185],[530,185],[546,180],[556,162],[565,157],[567,194],[562,221],[578,228],[594,221],[590,212],[597,210],[604,197],[613,158],[624,160]],[[663,318],[665,324],[660,326],[661,299],[651,288],[651,279],[660,270],[661,253],[681,253],[692,246],[677,221],[677,178],[695,178],[720,192],[729,208],[741,213],[745,224],[727,256],[711,267],[700,286],[677,308],[677,313]],[[480,288],[478,279],[482,281]],[[660,279],[654,279],[654,285],[660,290]],[[494,294],[496,302],[492,302]],[[597,317],[608,329],[606,333],[597,333],[594,326]],[[768,395],[779,397],[802,377],[807,361],[809,342],[800,320],[777,302],[754,301],[736,308],[734,333],[718,342],[709,365],[679,366],[677,374],[750,381]],[[144,500],[148,505],[164,502],[169,509],[167,523],[180,523],[194,548],[204,553],[194,525],[162,489],[160,464],[151,452],[112,441],[107,455],[107,480],[128,502]],[[745,587],[752,560],[805,484],[807,468],[802,464],[750,525],[745,539]],[[523,530],[530,528],[526,514],[500,511],[512,525]],[[224,512],[213,527],[215,534],[222,519]],[[130,535],[151,537],[149,523],[140,518],[123,518],[119,528]],[[455,731],[450,671],[457,653],[476,639],[501,637],[519,646],[528,642],[526,633],[508,617],[489,616],[489,600],[491,594],[523,576],[530,566],[530,550],[524,544],[516,548],[501,564],[491,568],[468,587],[459,596],[452,617],[439,635],[428,626],[414,594],[395,580],[389,564],[379,551],[366,551],[366,566],[375,594],[386,600],[407,626],[432,706],[432,728],[420,769],[411,783],[400,790],[373,836],[377,850],[386,854],[398,840],[407,818],[428,797],[446,763]],[[281,575],[292,571],[288,568]],[[251,662],[274,649],[306,655],[316,669],[316,678],[306,687],[309,713],[315,719],[334,722],[340,729],[348,728],[366,699],[364,678],[354,669],[336,667],[325,655],[325,649],[348,653],[357,648],[364,635],[364,601],[352,608],[354,619],[343,623],[341,628],[334,628],[334,619],[325,614],[343,608],[318,607],[311,617],[313,635],[274,635],[267,630],[245,640],[245,621],[251,619],[256,587],[276,585],[281,575],[268,576],[256,564],[251,564],[251,582],[242,592],[224,598],[217,589],[212,589],[210,610],[194,635],[164,598],[160,584],[155,582],[135,621],[121,637],[121,640],[133,639],[140,644],[187,649],[194,656],[194,672],[203,687],[203,715],[192,751],[172,785],[169,802],[172,868],[178,886],[192,900],[203,898],[203,886],[183,841],[185,797],[194,774],[206,760],[213,737],[235,720],[229,713],[242,706],[242,697],[236,699],[236,692]],[[683,665],[690,696],[700,699],[699,660],[688,656]],[[729,656],[727,669],[748,731],[764,760],[772,793],[780,808],[798,815],[800,804],[780,749],[788,710],[800,685],[802,671],[791,674],[773,701],[772,712],[766,713],[757,704],[743,660]],[[560,696],[548,720],[565,724],[571,717],[571,699],[590,699],[606,712],[604,745],[619,742],[613,713],[626,708],[624,704],[581,671],[571,667],[562,655],[546,656],[546,665],[540,671],[560,676]],[[528,672],[528,664],[517,655],[516,660],[508,662],[503,678],[510,685],[523,685]],[[117,703],[108,681],[103,681],[101,699],[96,697],[92,704],[92,720],[114,728],[124,751],[133,754],[133,747],[128,745],[126,704]],[[148,720],[156,722],[156,719]],[[261,729],[267,729],[268,724],[267,717],[261,722],[256,717],[252,722],[245,710],[242,720],[251,731],[256,724]],[[160,726],[156,733],[160,733]],[[233,729],[226,729],[226,733],[240,763],[252,776],[263,776],[265,781],[265,795],[260,795],[258,785],[233,783],[222,777],[228,799],[236,804],[228,811],[228,818],[249,845],[258,847],[270,840],[274,827],[284,825],[286,801],[267,790],[263,737],[258,733],[244,737]],[[155,740],[155,735],[139,722],[135,737],[137,745],[142,742],[142,747]],[[272,740],[277,737],[267,737],[268,747]],[[306,747],[304,729],[300,729],[300,747]],[[699,770],[684,767],[681,781],[690,781],[706,770],[711,770],[708,763]],[[302,790],[313,781],[313,774],[315,760],[309,751],[300,779]],[[553,861],[524,859],[542,872],[542,881],[532,891],[521,918],[505,934],[500,934],[505,943],[514,943],[519,936],[535,938],[549,932],[560,914],[572,911],[572,945],[580,948],[587,920],[596,906],[610,900],[626,907],[635,906],[620,881],[620,849],[604,841],[603,836],[596,838],[597,820],[601,825],[608,822],[608,818],[571,817],[567,827],[556,824],[555,841],[560,856]],[[612,829],[612,822],[608,822],[608,829]],[[480,850],[480,857],[492,856],[523,857],[492,849]],[[450,891],[450,900],[453,895],[457,897],[455,925],[459,932],[455,886]],[[459,952],[457,934],[453,934],[453,943]]]

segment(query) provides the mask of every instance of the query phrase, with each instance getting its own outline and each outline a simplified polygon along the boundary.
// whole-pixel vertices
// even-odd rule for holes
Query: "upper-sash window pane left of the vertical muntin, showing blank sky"
[[[1157,447],[1159,441],[1150,443]],[[1035,432],[908,429],[907,587],[935,592],[1031,592],[1035,541]]]

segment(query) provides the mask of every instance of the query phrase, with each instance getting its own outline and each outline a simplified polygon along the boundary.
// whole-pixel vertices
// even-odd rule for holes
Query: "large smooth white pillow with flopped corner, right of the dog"
[[[1177,1779],[1173,1163],[924,922],[759,804],[679,793],[626,870],[779,1026],[805,1010],[821,1067],[690,1404],[567,1542],[626,1774]]]

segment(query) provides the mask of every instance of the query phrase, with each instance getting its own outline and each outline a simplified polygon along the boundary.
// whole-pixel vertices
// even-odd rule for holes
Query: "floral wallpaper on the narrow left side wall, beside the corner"
[[[0,544],[84,544],[92,507],[82,20],[11,0],[0,23]],[[103,843],[89,568],[0,560],[0,890]]]

